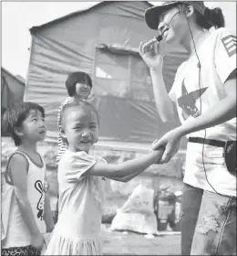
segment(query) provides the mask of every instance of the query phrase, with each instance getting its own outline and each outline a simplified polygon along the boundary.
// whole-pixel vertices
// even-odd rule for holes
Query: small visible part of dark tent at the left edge
[[[25,82],[1,68],[1,112],[13,102],[23,101]]]

